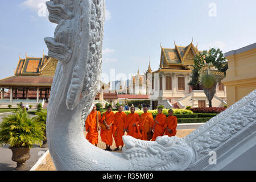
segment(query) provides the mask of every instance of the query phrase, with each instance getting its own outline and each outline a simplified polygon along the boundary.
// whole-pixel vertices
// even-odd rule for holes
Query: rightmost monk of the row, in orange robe
[[[168,137],[174,137],[177,133],[177,117],[172,114],[172,109],[168,110],[168,118],[166,119],[166,124],[164,125],[164,135],[168,135]]]

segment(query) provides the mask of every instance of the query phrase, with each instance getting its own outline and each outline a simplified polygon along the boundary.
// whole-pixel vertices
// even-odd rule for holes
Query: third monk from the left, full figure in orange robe
[[[125,135],[125,131],[126,131],[125,125],[126,125],[126,114],[125,112],[123,112],[123,107],[119,106],[118,112],[115,113],[115,120],[113,125],[113,137],[115,140],[115,146],[117,146],[117,148],[115,148],[114,151],[118,151],[119,146],[122,146],[123,148],[122,136]]]

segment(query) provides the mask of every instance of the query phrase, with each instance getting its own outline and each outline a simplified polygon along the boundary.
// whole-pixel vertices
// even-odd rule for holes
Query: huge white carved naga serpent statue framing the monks
[[[44,38],[48,55],[59,60],[47,113],[47,140],[57,170],[203,170],[233,154],[232,147],[255,138],[256,91],[210,119],[185,138],[155,142],[123,136],[122,153],[108,152],[84,137],[84,119],[100,89],[104,0],[51,0],[55,38]]]

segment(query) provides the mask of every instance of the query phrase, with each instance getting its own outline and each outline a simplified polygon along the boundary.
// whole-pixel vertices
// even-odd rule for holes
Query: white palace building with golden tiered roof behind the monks
[[[175,44],[175,43],[174,43]],[[208,106],[208,100],[203,89],[197,86],[189,86],[193,58],[199,54],[193,41],[186,47],[175,48],[161,47],[159,69],[152,72],[151,106],[156,109],[158,105],[167,108],[184,109],[185,106],[202,107]],[[226,88],[221,82],[217,85],[216,94],[213,97],[213,107],[226,104]]]

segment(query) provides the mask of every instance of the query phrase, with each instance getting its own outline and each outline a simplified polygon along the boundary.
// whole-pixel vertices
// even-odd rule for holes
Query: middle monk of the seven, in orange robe
[[[127,135],[141,139],[142,134],[139,130],[139,124],[141,123],[141,118],[139,118],[139,114],[135,113],[135,108],[131,107],[131,113],[127,115],[126,119],[126,131]]]

